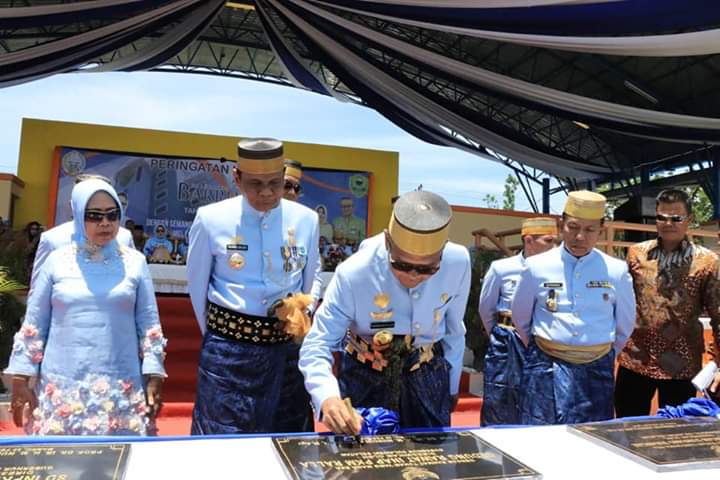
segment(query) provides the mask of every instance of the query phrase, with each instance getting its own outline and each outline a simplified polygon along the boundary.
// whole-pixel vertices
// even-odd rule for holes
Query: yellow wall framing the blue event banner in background
[[[177,157],[237,158],[240,138],[23,119],[18,176],[25,182],[25,192],[16,206],[14,223],[17,228],[31,220],[47,221],[56,146]],[[285,142],[285,155],[308,167],[370,172],[370,229],[377,233],[385,228],[391,212],[390,199],[397,192],[397,152]]]

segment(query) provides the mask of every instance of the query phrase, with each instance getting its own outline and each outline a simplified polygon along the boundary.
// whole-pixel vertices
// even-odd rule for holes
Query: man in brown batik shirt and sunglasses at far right
[[[615,386],[618,417],[648,415],[655,391],[659,405],[679,405],[695,396],[690,382],[702,368],[703,325],[710,316],[715,362],[720,363],[718,256],[686,233],[692,211],[682,190],[665,190],[655,202],[657,240],[630,247],[637,323],[621,353]],[[720,373],[710,391],[720,393]]]

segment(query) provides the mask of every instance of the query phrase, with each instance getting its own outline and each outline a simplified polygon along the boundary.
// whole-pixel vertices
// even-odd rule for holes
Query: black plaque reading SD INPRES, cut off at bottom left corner
[[[0,479],[121,480],[128,444],[0,446]]]

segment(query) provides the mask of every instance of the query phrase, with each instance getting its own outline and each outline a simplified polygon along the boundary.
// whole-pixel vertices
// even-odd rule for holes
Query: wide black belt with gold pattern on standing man
[[[274,345],[292,338],[280,329],[280,321],[275,317],[238,313],[213,302],[208,302],[207,329],[228,340],[243,343]]]

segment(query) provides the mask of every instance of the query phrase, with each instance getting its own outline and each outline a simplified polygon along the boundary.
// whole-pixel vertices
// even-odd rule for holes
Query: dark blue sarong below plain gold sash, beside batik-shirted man
[[[525,425],[584,423],[613,418],[615,353],[586,364],[550,357],[530,340],[525,355]]]

